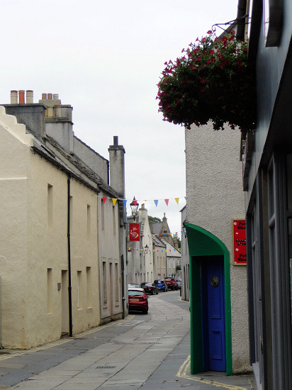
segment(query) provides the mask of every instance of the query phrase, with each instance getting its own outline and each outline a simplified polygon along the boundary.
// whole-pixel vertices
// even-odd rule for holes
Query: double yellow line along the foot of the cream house
[[[130,321],[130,320],[132,320],[133,317],[134,316],[128,316],[125,320],[114,321],[112,323],[106,323],[106,325],[101,325],[97,328],[94,328],[91,330],[86,330],[85,332],[82,332],[82,333],[78,333],[77,335],[74,335],[73,338],[65,338],[65,339],[57,340],[54,342],[50,342],[50,344],[42,345],[41,347],[31,348],[30,350],[23,350],[21,352],[0,355],[0,361],[6,360],[6,359],[11,359],[11,357],[26,355],[27,353],[48,350],[49,348],[56,347],[57,345],[62,345],[62,344],[66,344],[66,342],[74,341],[75,338],[79,338],[82,336],[90,335],[91,333],[99,332],[99,330],[102,330],[104,328],[109,328],[110,326],[117,325],[119,323],[122,323],[123,321]]]

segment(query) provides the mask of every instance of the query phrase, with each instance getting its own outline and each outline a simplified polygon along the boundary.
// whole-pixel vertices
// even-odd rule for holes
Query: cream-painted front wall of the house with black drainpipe
[[[62,280],[62,270],[68,270],[67,174],[35,153],[32,140],[25,126],[0,108],[2,344],[8,348],[30,348],[59,339],[64,331],[62,313],[68,309],[63,297],[67,280]],[[48,184],[52,186],[50,224]],[[97,202],[96,193],[75,179],[71,191],[72,323],[73,333],[79,333],[100,323]],[[51,269],[50,286],[47,269]],[[91,274],[90,280],[86,273]],[[68,331],[69,321],[66,325]]]

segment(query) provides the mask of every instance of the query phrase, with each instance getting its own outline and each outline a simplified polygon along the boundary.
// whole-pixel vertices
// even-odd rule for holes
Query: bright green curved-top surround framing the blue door
[[[203,372],[203,333],[201,310],[201,270],[196,257],[223,256],[225,279],[225,350],[226,372],[232,375],[230,253],[215,235],[191,223],[184,223],[189,245],[191,306],[191,374]]]

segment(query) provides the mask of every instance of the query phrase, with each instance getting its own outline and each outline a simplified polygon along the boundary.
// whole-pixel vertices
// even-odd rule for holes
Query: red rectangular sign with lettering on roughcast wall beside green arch
[[[232,221],[233,264],[247,265],[247,240],[245,237],[245,219]]]

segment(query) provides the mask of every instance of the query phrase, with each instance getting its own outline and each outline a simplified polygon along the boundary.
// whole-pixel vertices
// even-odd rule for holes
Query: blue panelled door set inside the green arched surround
[[[222,256],[201,260],[203,358],[205,371],[226,371],[224,263]]]

